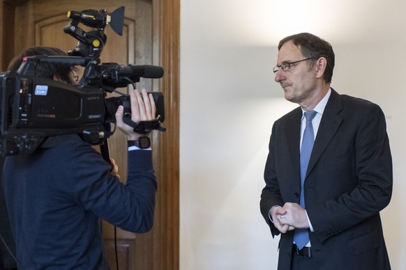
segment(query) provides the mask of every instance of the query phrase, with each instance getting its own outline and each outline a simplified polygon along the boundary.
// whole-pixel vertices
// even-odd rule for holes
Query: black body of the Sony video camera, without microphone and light
[[[163,94],[151,92],[156,118],[165,120]],[[79,134],[93,145],[109,138],[116,109],[130,110],[128,95],[106,97],[102,88],[70,86],[59,81],[0,75],[0,154],[31,153],[51,136]]]

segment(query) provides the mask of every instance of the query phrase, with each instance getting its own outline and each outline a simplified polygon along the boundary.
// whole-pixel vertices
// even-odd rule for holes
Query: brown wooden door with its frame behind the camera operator
[[[153,138],[153,157],[158,177],[155,225],[151,232],[135,235],[117,229],[120,269],[179,269],[179,0],[3,0],[0,27],[0,56],[3,69],[15,53],[24,47],[53,46],[64,51],[74,49],[77,40],[63,33],[70,22],[68,10],[101,8],[111,13],[126,6],[123,36],[107,26],[107,44],[103,63],[161,65],[163,79],[142,79],[137,88],[159,90],[165,96],[165,134]],[[86,26],[80,25],[87,30]],[[126,92],[126,88],[120,88]],[[126,139],[116,132],[109,139],[110,156],[119,165],[121,180],[126,180]],[[105,246],[112,269],[115,268],[114,227],[103,223]]]

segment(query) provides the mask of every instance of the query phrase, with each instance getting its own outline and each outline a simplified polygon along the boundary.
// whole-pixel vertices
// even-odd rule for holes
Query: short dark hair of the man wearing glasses
[[[331,83],[334,69],[334,51],[329,42],[311,33],[299,33],[280,40],[278,50],[288,41],[292,41],[301,50],[304,57],[312,58],[312,64],[320,57],[326,58],[327,66],[324,71],[324,81]]]

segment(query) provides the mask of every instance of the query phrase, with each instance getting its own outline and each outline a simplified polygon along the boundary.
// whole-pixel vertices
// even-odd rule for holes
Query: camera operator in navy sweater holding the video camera
[[[26,49],[10,63],[17,70],[24,56],[66,55],[50,47]],[[75,84],[74,67],[40,64],[38,77]],[[153,120],[155,102],[146,90],[130,93],[131,120]],[[68,105],[67,105],[68,106]],[[128,141],[140,134],[116,125]],[[143,135],[145,136],[145,135]],[[110,269],[103,248],[100,219],[130,232],[147,232],[153,225],[156,197],[151,150],[128,150],[128,180],[79,135],[57,136],[33,154],[6,157],[3,190],[15,239],[17,260],[24,269]],[[114,166],[114,164],[113,164]]]

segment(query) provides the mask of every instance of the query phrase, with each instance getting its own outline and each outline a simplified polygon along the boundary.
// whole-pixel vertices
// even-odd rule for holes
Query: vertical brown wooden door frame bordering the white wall
[[[153,65],[165,70],[153,88],[165,97],[167,131],[153,145],[159,182],[155,224],[148,234],[137,235],[136,269],[179,269],[179,29],[179,0],[153,1]]]

